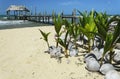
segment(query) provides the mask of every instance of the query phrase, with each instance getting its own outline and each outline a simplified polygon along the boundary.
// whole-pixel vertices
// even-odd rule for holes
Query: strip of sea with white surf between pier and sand
[[[49,26],[49,24],[36,23],[28,20],[7,20],[5,15],[0,15],[0,30],[24,27]]]

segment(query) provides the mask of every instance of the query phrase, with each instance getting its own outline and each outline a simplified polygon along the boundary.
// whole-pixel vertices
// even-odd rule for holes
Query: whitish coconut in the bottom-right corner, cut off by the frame
[[[110,70],[106,73],[104,79],[120,79],[120,73],[116,70]]]

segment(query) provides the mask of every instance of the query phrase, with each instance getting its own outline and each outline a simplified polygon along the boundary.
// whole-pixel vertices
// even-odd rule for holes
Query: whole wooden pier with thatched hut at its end
[[[14,15],[10,15],[10,11],[14,11]],[[26,7],[24,6],[16,6],[11,5],[7,9],[7,16],[8,19],[14,19],[14,20],[29,20],[33,22],[39,22],[39,23],[45,23],[45,24],[54,24],[53,23],[53,16],[47,15],[47,14],[38,14],[35,12],[35,15],[30,15],[30,12]],[[55,15],[58,16],[58,15]],[[71,15],[64,15],[61,13],[62,19],[69,19],[71,23],[76,23],[76,19],[78,19],[80,16],[76,15],[76,10],[74,9]]]

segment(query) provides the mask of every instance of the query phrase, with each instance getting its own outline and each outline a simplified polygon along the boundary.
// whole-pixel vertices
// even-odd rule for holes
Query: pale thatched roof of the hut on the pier
[[[29,10],[25,6],[18,6],[18,5],[10,5],[6,11],[27,11]]]

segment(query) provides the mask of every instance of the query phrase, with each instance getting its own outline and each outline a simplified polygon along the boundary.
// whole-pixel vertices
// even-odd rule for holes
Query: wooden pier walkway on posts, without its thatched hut
[[[55,15],[58,16],[58,15]],[[10,16],[8,16],[10,19]],[[13,16],[12,16],[13,17]],[[76,23],[80,16],[76,15],[76,10],[73,10],[71,15],[64,15],[63,13],[61,13],[61,18],[62,19],[68,19],[69,21],[71,21],[71,23]],[[45,15],[45,14],[35,14],[35,15],[15,15],[14,19],[18,19],[18,20],[29,20],[29,21],[33,21],[33,22],[39,22],[39,23],[46,23],[46,24],[54,24],[53,23],[53,15]]]

